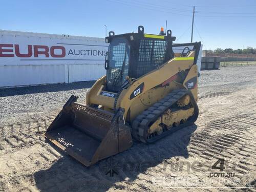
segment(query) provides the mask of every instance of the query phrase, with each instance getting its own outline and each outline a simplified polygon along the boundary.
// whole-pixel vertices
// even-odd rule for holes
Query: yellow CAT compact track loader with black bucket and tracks
[[[201,42],[173,44],[172,31],[105,38],[106,75],[86,96],[72,95],[45,136],[86,166],[130,148],[133,139],[152,143],[198,117],[197,58]],[[133,138],[133,139],[132,139]]]

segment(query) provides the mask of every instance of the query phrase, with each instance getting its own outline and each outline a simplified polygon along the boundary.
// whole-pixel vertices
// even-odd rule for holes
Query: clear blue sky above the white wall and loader
[[[116,34],[158,34],[173,31],[177,42],[190,42],[193,6],[194,41],[204,49],[256,48],[256,1],[253,0],[88,0],[2,1],[0,29],[104,37],[105,27]]]

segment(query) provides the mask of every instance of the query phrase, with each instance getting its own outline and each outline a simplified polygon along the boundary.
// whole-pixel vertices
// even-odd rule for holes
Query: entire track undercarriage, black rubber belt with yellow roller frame
[[[182,102],[183,98],[189,102]],[[140,114],[133,122],[133,136],[144,143],[152,143],[198,117],[197,103],[188,90],[175,90]]]

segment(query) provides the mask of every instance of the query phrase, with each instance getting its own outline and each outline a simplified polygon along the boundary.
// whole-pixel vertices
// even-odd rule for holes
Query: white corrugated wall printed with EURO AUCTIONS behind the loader
[[[104,38],[0,30],[0,87],[95,80]]]

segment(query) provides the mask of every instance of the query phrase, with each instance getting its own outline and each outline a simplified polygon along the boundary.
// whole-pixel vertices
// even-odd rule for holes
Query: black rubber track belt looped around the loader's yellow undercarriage
[[[185,95],[189,95],[191,98],[191,104],[194,107],[194,115],[192,118],[184,124],[181,124],[177,127],[172,127],[170,130],[164,131],[159,136],[154,136],[153,138],[148,139],[148,129],[152,123],[154,123],[162,114],[169,109],[174,103],[176,103],[179,99],[184,97]],[[156,102],[150,108],[142,112],[142,114],[138,115],[137,118],[133,121],[133,136],[135,139],[142,141],[144,143],[152,143],[157,141],[158,139],[169,135],[175,131],[178,131],[182,127],[188,126],[189,124],[194,123],[197,120],[199,111],[196,100],[191,93],[190,90],[174,90],[168,95],[166,95],[159,102]]]

